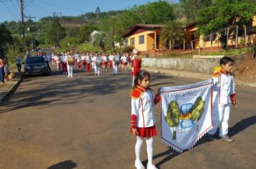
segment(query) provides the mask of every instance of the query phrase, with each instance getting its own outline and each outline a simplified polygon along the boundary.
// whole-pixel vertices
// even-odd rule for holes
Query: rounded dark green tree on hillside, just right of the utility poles
[[[46,37],[49,42],[55,44],[56,47],[60,47],[60,40],[65,37],[65,29],[60,25],[58,19],[52,19],[47,27]]]

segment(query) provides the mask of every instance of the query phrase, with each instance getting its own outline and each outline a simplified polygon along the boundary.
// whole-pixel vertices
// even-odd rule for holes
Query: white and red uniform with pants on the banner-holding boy
[[[220,125],[219,136],[223,137],[228,133],[230,105],[236,102],[234,77],[221,69],[221,72],[214,74],[213,81],[213,127],[208,133],[214,135]]]

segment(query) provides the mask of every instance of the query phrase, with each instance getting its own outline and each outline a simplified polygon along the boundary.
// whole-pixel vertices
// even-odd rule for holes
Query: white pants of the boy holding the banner
[[[219,127],[219,137],[223,137],[223,135],[227,135],[229,132],[229,113],[230,113],[230,104],[222,105],[222,104],[214,104],[214,112],[213,112],[213,127],[208,132],[210,135],[214,135]],[[219,126],[220,125],[220,126]]]

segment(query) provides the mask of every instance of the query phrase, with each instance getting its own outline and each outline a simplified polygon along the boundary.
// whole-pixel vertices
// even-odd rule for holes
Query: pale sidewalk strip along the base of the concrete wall
[[[211,74],[204,74],[204,73],[197,73],[197,72],[188,72],[188,71],[181,71],[181,70],[170,70],[170,69],[155,69],[150,67],[143,67],[143,69],[147,69],[149,72],[161,73],[161,74],[170,74],[173,76],[178,77],[191,77],[196,79],[211,79]],[[256,87],[256,83],[253,82],[244,82],[241,80],[235,80],[237,85],[241,86],[250,86]]]

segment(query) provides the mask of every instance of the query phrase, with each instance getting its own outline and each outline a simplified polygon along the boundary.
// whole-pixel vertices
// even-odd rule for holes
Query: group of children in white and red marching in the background
[[[63,74],[73,77],[73,69],[83,69],[84,72],[91,72],[94,69],[95,76],[99,76],[101,72],[109,72],[112,69],[113,74],[118,74],[119,69],[127,72],[127,65],[132,63],[132,74],[138,72],[140,61],[137,54],[129,54],[128,52],[118,53],[111,52],[85,52],[84,54],[65,52],[61,54],[52,54],[52,64],[57,67]],[[136,60],[136,61],[135,61]],[[135,66],[136,65],[136,66]],[[133,68],[135,67],[135,68]]]

